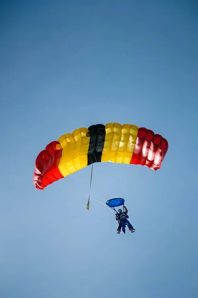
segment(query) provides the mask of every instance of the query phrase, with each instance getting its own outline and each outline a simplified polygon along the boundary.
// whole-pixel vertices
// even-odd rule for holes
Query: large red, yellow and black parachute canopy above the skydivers
[[[36,189],[66,177],[94,162],[139,164],[158,170],[168,150],[161,135],[133,124],[107,123],[76,129],[42,150],[35,161]]]

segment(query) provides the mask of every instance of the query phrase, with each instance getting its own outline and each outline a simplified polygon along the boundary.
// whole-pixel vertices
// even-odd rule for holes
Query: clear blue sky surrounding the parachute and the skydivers
[[[0,1],[0,297],[198,297],[197,32],[196,1]],[[167,138],[161,170],[94,164],[89,212],[91,167],[35,190],[48,143],[108,122]]]

